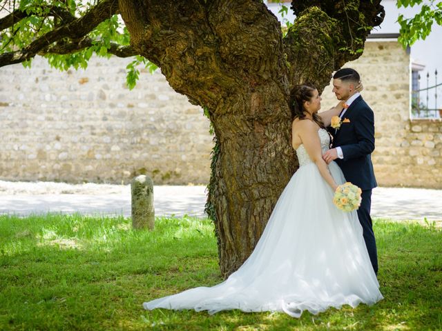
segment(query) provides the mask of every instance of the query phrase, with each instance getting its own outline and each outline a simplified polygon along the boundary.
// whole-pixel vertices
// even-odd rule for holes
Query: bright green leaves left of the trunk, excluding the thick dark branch
[[[44,39],[45,34],[60,26],[75,21],[84,16],[97,5],[97,1],[75,0],[20,0],[15,8],[23,19],[0,31],[0,54],[25,51],[34,41]],[[14,6],[14,5],[12,5]],[[19,12],[21,11],[21,13]],[[99,23],[88,34],[78,37],[62,37],[38,51],[38,54],[48,59],[53,68],[68,70],[69,68],[87,68],[88,61],[95,54],[98,57],[111,57],[119,53],[124,46],[130,45],[130,35],[124,22],[118,14]],[[26,54],[26,52],[23,52]],[[33,55],[32,55],[33,56]],[[124,56],[124,55],[123,55]],[[32,59],[32,57],[31,57]],[[32,61],[22,62],[30,67]],[[135,57],[126,67],[126,82],[128,88],[135,87],[140,76],[139,66],[144,66],[150,72],[157,69],[155,64],[144,57]]]

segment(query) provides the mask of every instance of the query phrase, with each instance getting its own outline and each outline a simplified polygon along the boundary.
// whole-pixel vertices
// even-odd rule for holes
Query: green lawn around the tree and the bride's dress
[[[375,221],[385,299],[294,319],[239,310],[145,311],[142,303],[222,281],[207,219],[0,216],[0,330],[442,330],[442,231]]]

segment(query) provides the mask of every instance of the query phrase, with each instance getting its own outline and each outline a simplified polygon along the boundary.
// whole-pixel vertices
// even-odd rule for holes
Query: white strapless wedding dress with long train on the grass
[[[325,152],[329,134],[325,129],[318,134]],[[338,210],[332,188],[304,146],[296,153],[300,168],[244,264],[218,285],[145,302],[144,309],[280,311],[300,317],[304,310],[317,314],[329,307],[372,305],[383,299],[356,211]],[[329,169],[336,183],[345,183],[334,161]]]

